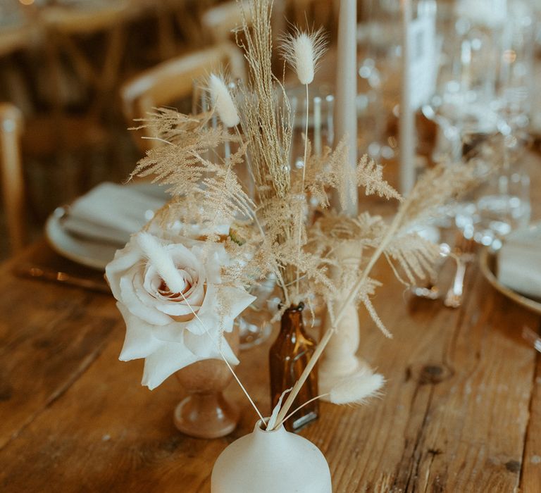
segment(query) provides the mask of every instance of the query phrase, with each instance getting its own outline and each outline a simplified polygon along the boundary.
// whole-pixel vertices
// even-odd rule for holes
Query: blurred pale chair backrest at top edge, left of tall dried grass
[[[244,18],[251,25],[251,9],[244,8]],[[226,1],[207,10],[201,15],[201,26],[213,42],[228,41],[235,27],[242,25],[242,9],[236,0]]]

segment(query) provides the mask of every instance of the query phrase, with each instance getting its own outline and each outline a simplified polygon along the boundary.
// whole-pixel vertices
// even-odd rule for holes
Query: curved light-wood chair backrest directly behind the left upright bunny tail
[[[144,118],[152,108],[167,106],[191,96],[195,80],[224,67],[232,78],[245,80],[244,56],[230,42],[179,56],[145,70],[120,88],[126,120],[131,125],[133,120]],[[137,137],[144,135],[148,134],[139,132]],[[147,150],[158,145],[158,142],[137,138],[137,144],[142,150]]]

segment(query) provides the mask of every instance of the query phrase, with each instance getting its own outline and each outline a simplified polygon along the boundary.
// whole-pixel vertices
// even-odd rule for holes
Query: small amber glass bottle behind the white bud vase
[[[293,387],[316,349],[316,342],[304,332],[302,310],[304,304],[290,306],[282,315],[280,333],[269,353],[270,400],[272,408],[285,389]],[[318,371],[313,368],[295,398],[290,411],[318,395]],[[289,431],[298,431],[318,418],[318,401],[307,404],[285,422]]]

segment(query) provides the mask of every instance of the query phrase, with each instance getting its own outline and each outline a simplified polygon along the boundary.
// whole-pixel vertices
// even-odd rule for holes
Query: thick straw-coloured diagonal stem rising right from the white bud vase
[[[411,196],[411,194],[410,194]],[[381,240],[381,243],[378,246],[378,249],[374,251],[374,253],[371,256],[370,261],[368,261],[367,266],[364,268],[363,273],[361,277],[359,277],[359,280],[355,283],[355,285],[350,290],[347,299],[344,301],[344,304],[342,304],[340,310],[336,314],[336,318],[334,320],[334,323],[325,331],[325,334],[321,338],[321,341],[319,342],[318,346],[316,347],[316,351],[313,352],[312,357],[310,358],[310,361],[304,368],[304,371],[302,372],[301,376],[299,377],[299,380],[295,383],[293,386],[292,391],[287,396],[287,399],[280,409],[280,413],[278,413],[278,417],[276,418],[276,425],[273,428],[273,430],[276,430],[283,422],[285,416],[287,416],[287,411],[290,410],[293,401],[295,397],[297,397],[297,394],[299,394],[299,391],[304,385],[304,382],[306,382],[306,378],[308,378],[308,375],[310,374],[311,370],[313,370],[313,367],[316,366],[316,363],[318,362],[319,357],[323,353],[323,350],[327,346],[328,342],[330,341],[330,338],[332,335],[336,332],[338,323],[340,323],[340,320],[342,320],[342,317],[344,316],[344,313],[346,313],[345,307],[349,306],[359,294],[359,290],[361,289],[364,282],[366,282],[366,279],[368,278],[368,275],[370,274],[373,266],[378,261],[378,258],[380,258],[381,254],[385,251],[385,248],[387,248],[387,244],[392,239],[392,236],[396,232],[397,228],[399,227],[402,218],[404,217],[404,214],[406,213],[406,210],[408,208],[409,203],[405,203],[402,205],[400,210],[397,213],[397,216],[394,217],[394,220],[390,224],[389,228],[387,229],[387,232],[385,233],[385,237]]]

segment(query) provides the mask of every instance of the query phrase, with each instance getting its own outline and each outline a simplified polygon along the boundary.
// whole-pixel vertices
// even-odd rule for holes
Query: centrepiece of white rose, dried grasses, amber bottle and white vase
[[[371,277],[373,266],[385,257],[404,283],[430,273],[439,247],[411,232],[411,226],[464,191],[475,181],[475,170],[428,170],[404,199],[384,180],[383,168],[368,158],[355,168],[343,166],[345,139],[315,156],[305,135],[304,166],[292,172],[292,113],[283,84],[271,70],[272,1],[255,0],[240,8],[250,9],[252,21],[249,27],[244,20],[238,42],[248,80],[231,92],[225,75],[212,74],[206,80],[211,111],[184,115],[156,108],[142,123],[163,145],[148,151],[132,175],[154,176],[172,198],[106,268],[126,323],[120,359],[144,358],[142,384],[150,389],[201,361],[223,361],[234,375],[259,422],[250,439],[233,443],[218,459],[213,492],[330,492],[321,452],[283,426],[293,423],[290,428],[297,429],[317,417],[322,396],[315,366],[331,337],[341,337],[337,327],[344,307],[364,306],[391,337],[370,301],[380,285]],[[285,40],[285,59],[306,92],[323,44],[321,32],[297,31]],[[220,125],[209,125],[213,116]],[[253,180],[253,196],[242,184],[243,166]],[[325,211],[330,191],[346,204],[358,187],[396,200],[396,216],[388,222],[368,211],[355,217]],[[306,221],[309,197],[323,208],[315,223]],[[363,251],[354,268],[343,253],[347,245]],[[273,413],[266,419],[236,377],[233,366],[239,360],[225,335],[254,300],[250,287],[268,275],[275,277],[282,303],[275,314],[280,335],[270,353]],[[310,308],[315,296],[325,300],[330,317],[318,344],[303,329],[303,308]],[[325,397],[335,404],[359,404],[378,394],[383,383],[382,375],[366,369],[338,382]],[[318,453],[309,455],[308,449]],[[275,460],[280,450],[288,451],[287,461]],[[303,457],[309,459],[300,474]]]

